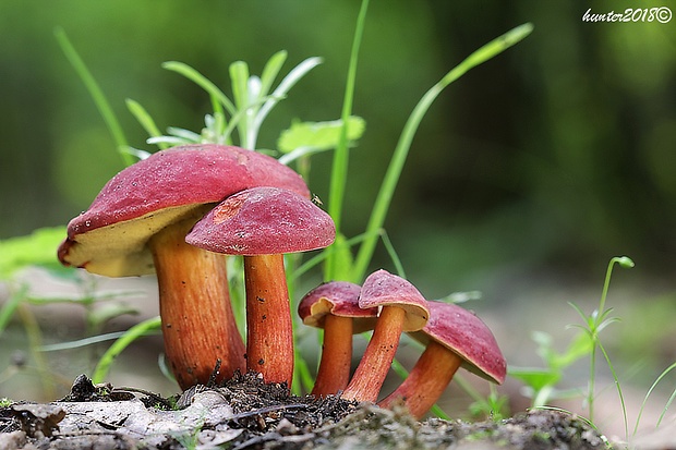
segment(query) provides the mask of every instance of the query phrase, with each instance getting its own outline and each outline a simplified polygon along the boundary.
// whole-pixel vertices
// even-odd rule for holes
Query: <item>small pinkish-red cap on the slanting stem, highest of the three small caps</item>
[[[418,331],[430,317],[427,301],[420,291],[401,277],[387,270],[376,270],[364,280],[359,306],[367,309],[379,306],[398,306],[406,311],[403,331]]]

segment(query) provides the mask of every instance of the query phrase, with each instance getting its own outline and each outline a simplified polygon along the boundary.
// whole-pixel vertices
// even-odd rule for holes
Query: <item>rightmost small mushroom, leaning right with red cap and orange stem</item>
[[[471,312],[443,302],[427,302],[430,320],[411,336],[426,348],[409,376],[378,405],[389,408],[403,400],[410,413],[421,418],[439,399],[458,367],[502,384],[506,363],[493,333]]]

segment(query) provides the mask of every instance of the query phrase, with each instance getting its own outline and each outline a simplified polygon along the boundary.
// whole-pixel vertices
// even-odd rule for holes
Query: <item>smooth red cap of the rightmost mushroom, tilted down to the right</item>
[[[435,340],[457,353],[462,366],[490,381],[505,381],[507,363],[488,327],[472,312],[452,303],[427,302],[430,320],[411,336],[422,343]]]

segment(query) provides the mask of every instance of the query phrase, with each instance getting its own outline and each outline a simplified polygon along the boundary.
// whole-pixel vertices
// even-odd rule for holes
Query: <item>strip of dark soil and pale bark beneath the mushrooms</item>
[[[86,376],[52,403],[0,409],[0,449],[606,449],[583,419],[538,410],[505,421],[413,419],[337,397],[295,397],[257,374],[174,398]]]

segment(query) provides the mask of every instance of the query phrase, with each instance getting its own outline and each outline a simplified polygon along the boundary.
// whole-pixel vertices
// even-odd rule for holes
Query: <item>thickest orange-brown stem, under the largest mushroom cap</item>
[[[159,285],[165,351],[179,386],[207,384],[244,370],[244,342],[230,304],[222,255],[186,244],[194,219],[169,226],[148,243]]]

